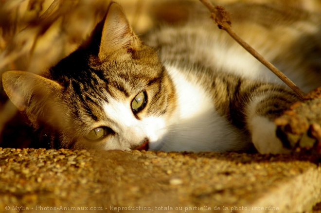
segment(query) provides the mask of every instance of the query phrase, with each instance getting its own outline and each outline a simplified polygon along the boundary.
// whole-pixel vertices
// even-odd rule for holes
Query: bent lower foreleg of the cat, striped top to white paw
[[[253,90],[246,107],[246,120],[258,152],[278,154],[291,151],[291,147],[278,138],[274,120],[297,100],[294,92],[274,85],[263,84]]]

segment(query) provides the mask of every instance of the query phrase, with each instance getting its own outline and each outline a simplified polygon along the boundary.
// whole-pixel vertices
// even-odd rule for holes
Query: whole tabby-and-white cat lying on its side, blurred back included
[[[318,16],[275,5],[226,7],[234,30],[299,87],[320,86]],[[273,120],[298,95],[208,12],[197,16],[139,37],[111,2],[75,52],[41,75],[7,71],[3,88],[50,148],[290,152]]]

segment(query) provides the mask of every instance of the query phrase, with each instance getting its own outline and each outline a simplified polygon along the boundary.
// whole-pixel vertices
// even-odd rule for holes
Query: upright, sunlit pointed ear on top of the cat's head
[[[98,57],[103,59],[118,51],[132,52],[139,46],[140,40],[129,25],[122,7],[111,3],[104,22]]]

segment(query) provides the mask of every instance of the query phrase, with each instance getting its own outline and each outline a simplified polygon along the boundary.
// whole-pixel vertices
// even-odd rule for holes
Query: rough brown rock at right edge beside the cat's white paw
[[[293,104],[274,122],[277,136],[296,152],[321,154],[321,88]]]

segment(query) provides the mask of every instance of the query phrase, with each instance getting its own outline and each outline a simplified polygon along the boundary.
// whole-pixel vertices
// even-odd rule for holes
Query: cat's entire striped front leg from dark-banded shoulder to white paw
[[[216,110],[250,136],[262,154],[288,153],[277,137],[274,120],[299,97],[293,91],[275,84],[218,74],[212,84]]]

